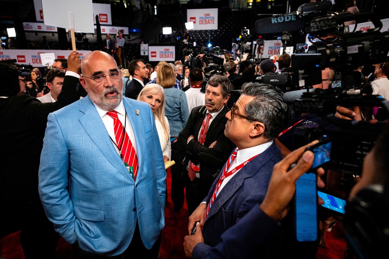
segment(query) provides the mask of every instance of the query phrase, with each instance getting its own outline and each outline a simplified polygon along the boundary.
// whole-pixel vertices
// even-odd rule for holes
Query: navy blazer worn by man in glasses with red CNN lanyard
[[[221,235],[228,228],[235,225],[256,204],[262,203],[273,167],[281,160],[281,151],[273,141],[268,149],[251,160],[228,181],[208,213],[202,230],[204,243],[195,246],[192,252],[193,258],[205,258],[212,247],[221,242]],[[219,178],[220,174],[203,202],[209,202]]]

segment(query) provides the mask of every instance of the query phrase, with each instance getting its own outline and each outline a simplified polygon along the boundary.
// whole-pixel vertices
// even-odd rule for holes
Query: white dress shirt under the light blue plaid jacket
[[[95,103],[93,103],[93,104],[95,104]],[[107,111],[103,110],[102,108],[100,108],[96,104],[95,104],[95,107],[96,107],[96,110],[104,123],[105,129],[107,129],[108,135],[111,137],[112,141],[114,141],[115,144],[117,145],[116,138],[115,138],[115,131],[114,131],[114,119],[112,119],[107,114]],[[126,110],[124,109],[123,100],[119,103],[118,106],[116,106],[114,111],[117,111],[117,117],[119,118],[119,120],[123,124],[123,126],[124,126],[124,124],[126,125],[125,129],[126,129],[126,132],[128,134],[128,137],[130,137],[130,141],[132,143],[132,146],[135,149],[135,153],[138,153],[137,152],[137,145],[135,143],[135,135],[134,135],[134,132],[132,130],[130,120],[128,120],[128,116],[126,116],[126,118],[125,118],[126,122],[124,122],[124,116],[126,114]],[[117,153],[120,156],[120,150],[117,148],[117,146],[115,144],[112,143],[112,145],[114,145]]]

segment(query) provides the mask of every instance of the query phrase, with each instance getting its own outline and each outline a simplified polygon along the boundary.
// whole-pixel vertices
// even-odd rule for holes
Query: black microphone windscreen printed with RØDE
[[[255,32],[279,33],[284,31],[298,31],[305,29],[305,19],[296,13],[260,19],[255,22]]]

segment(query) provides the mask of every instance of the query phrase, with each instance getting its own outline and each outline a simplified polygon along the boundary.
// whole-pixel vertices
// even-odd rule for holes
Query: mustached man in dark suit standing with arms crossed
[[[207,161],[201,161],[199,153],[206,153],[225,162],[235,147],[224,136],[226,113],[229,111],[225,104],[230,98],[231,89],[231,82],[225,76],[212,76],[205,90],[205,106],[193,108],[178,136],[177,146],[186,155],[184,184],[189,215],[207,196],[220,169],[208,165]]]

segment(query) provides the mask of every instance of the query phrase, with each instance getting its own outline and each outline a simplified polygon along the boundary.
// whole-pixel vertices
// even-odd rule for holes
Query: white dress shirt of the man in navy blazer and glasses
[[[271,140],[271,141],[268,141],[266,143],[260,144],[258,146],[238,150],[237,157],[232,161],[227,172],[230,172],[232,169],[234,169],[238,165],[246,162],[247,160],[249,160],[253,156],[265,152],[265,150],[268,149],[272,145],[272,143],[273,143],[273,141]],[[228,181],[230,181],[231,178],[234,177],[237,174],[237,172],[239,172],[239,171],[240,171],[240,169],[238,169],[235,173],[231,174],[230,176],[224,178],[223,182],[220,185],[219,190],[216,193],[216,197],[219,195],[219,193],[221,192],[223,187],[228,183]],[[217,178],[217,181],[219,181],[219,178]],[[214,191],[214,190],[212,190],[212,191]],[[206,202],[202,202],[202,203],[206,203]]]

